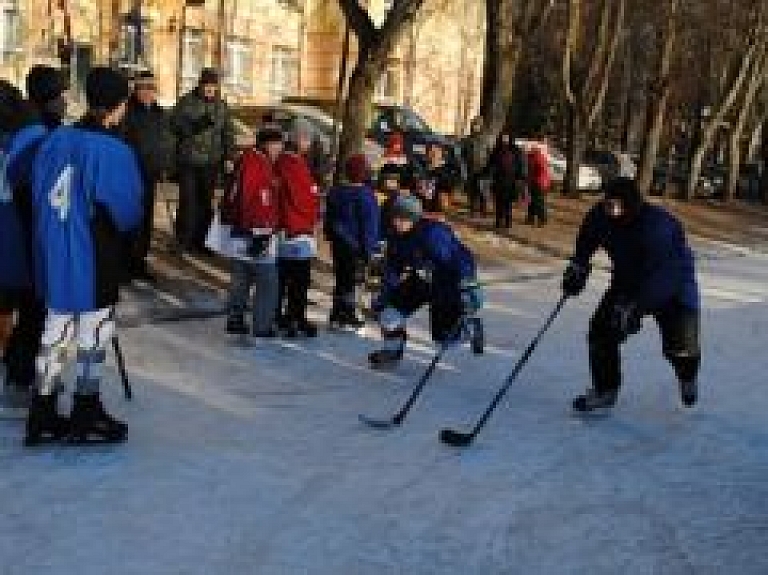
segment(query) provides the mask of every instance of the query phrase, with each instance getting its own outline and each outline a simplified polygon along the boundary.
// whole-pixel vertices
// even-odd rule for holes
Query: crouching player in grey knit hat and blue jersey
[[[482,325],[476,313],[482,291],[475,261],[446,224],[422,217],[421,202],[399,197],[392,210],[396,234],[388,244],[382,290],[376,302],[384,345],[368,356],[371,365],[399,362],[407,339],[406,320],[430,307],[434,341],[458,341],[469,328],[473,350],[482,353]]]

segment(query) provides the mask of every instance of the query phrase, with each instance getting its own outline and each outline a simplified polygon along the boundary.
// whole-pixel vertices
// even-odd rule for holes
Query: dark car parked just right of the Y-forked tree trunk
[[[462,176],[465,175],[461,153],[454,141],[436,133],[410,108],[393,104],[377,105],[368,137],[386,148],[389,136],[394,132],[403,135],[405,152],[411,161],[426,165],[427,149],[436,144],[443,149],[446,163],[457,166]]]

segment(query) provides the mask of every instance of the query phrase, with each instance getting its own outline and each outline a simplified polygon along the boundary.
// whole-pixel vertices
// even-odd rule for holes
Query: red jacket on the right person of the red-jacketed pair
[[[303,156],[283,153],[275,162],[280,181],[280,227],[291,238],[314,234],[318,218],[317,185]]]

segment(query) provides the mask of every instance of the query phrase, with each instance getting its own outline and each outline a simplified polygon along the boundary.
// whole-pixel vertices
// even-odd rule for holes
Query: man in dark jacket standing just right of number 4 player
[[[140,72],[123,121],[128,142],[139,159],[144,184],[144,217],[139,232],[128,246],[129,273],[134,279],[152,281],[147,255],[152,241],[157,184],[167,179],[176,161],[176,142],[170,115],[157,103],[155,76]]]

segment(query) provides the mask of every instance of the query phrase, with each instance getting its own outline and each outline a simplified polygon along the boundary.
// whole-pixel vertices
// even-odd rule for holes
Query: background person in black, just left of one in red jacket
[[[489,161],[491,192],[495,203],[496,229],[512,225],[512,205],[525,192],[528,167],[525,152],[509,134],[499,136]]]

